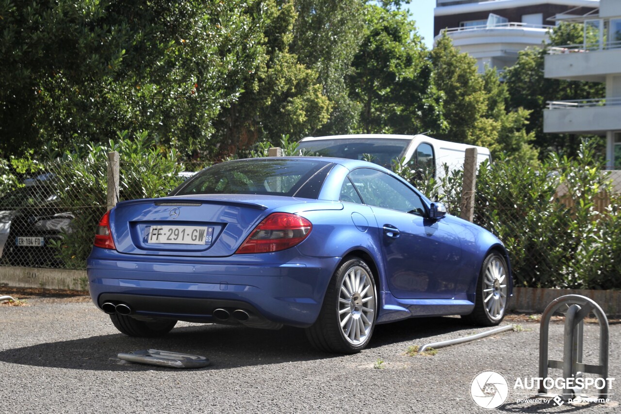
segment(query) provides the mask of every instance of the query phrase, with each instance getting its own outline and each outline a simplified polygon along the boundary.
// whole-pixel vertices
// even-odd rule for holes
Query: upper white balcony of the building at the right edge
[[[545,57],[546,78],[605,82],[621,75],[621,42],[551,47]]]

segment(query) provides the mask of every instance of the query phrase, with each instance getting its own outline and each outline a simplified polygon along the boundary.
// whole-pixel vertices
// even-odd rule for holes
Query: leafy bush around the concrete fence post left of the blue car
[[[175,150],[163,151],[148,139],[147,132],[129,137],[118,134],[108,145],[89,144],[72,152],[50,156],[56,162],[53,185],[63,205],[75,216],[71,229],[58,242],[58,259],[70,269],[83,269],[91,252],[97,223],[107,209],[107,159],[119,152],[119,200],[166,195],[182,181]]]

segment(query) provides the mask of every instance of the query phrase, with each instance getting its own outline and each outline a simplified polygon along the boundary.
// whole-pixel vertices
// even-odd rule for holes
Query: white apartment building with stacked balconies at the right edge
[[[582,44],[551,48],[545,77],[605,83],[602,99],[548,102],[543,132],[605,136],[607,168],[621,169],[621,0],[601,0],[584,23]]]

